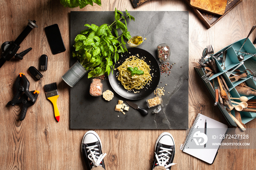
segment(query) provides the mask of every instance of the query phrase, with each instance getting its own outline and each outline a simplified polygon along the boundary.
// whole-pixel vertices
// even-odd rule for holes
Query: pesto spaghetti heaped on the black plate
[[[131,72],[127,70],[128,67],[138,67],[139,70],[142,70],[144,74],[142,75],[131,75]],[[119,71],[118,80],[121,81],[121,84],[125,89],[142,89],[147,83],[151,81],[150,75],[150,66],[147,63],[139,59],[138,57],[131,56],[125,60],[119,67],[117,67]]]

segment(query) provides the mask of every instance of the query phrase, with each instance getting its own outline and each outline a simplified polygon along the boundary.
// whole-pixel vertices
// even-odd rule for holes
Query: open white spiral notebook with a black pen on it
[[[198,113],[180,150],[212,164],[226,131],[227,125]]]

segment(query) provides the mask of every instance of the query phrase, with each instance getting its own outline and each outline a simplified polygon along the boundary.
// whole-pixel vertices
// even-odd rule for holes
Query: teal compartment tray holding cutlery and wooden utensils
[[[222,75],[222,77],[224,78],[224,80],[225,80],[225,82],[226,82],[226,84],[229,88],[229,93],[230,93],[231,97],[239,98],[241,96],[245,96],[245,95],[239,94],[236,90],[236,86],[238,86],[242,82],[245,82],[246,85],[249,86],[250,88],[256,89],[256,81],[253,80],[253,79],[255,79],[255,77],[253,78],[253,75],[247,75],[247,77],[245,77],[243,79],[239,79],[237,81],[231,82],[229,77],[231,77],[233,75],[231,74],[230,76],[228,76],[228,74],[226,73],[228,71],[231,71],[231,70],[235,69],[236,67],[242,73],[243,71],[245,71],[247,69],[244,65],[244,62],[246,62],[246,60],[248,60],[248,61],[252,60],[251,63],[256,63],[256,57],[252,56],[252,55],[248,55],[248,54],[243,54],[244,55],[244,61],[242,61],[242,62],[238,61],[237,51],[239,51],[239,49],[241,48],[242,44],[244,43],[244,40],[245,39],[241,39],[241,40],[238,40],[237,42],[234,42],[233,46],[231,46],[229,49],[227,49],[227,48],[230,45],[223,48],[222,50],[220,50],[220,51],[224,51],[225,49],[227,49],[226,62],[225,62],[225,67],[226,68],[224,70],[221,67],[222,62],[219,62],[215,59],[215,64],[218,68],[218,73],[214,74],[214,76],[212,76],[210,78],[211,83],[210,82],[207,82],[207,83],[204,82],[206,84],[208,90],[210,91],[212,97],[214,98],[214,100],[215,100],[215,90],[214,90],[214,87],[211,84],[212,84],[214,78],[217,78],[217,76],[220,76],[220,75]],[[256,48],[252,44],[251,40],[249,40],[249,39],[246,40],[244,47],[240,51],[241,52],[246,52],[246,53],[256,54]],[[239,53],[239,54],[241,54],[241,53]],[[222,55],[220,57],[222,57]],[[256,68],[256,65],[255,65],[255,68]],[[204,74],[206,74],[204,69],[196,69],[196,70],[197,70],[198,74],[200,75],[200,77],[202,77]],[[233,72],[233,74],[235,74],[235,73],[237,73],[237,72]],[[249,99],[256,99],[256,96],[254,96],[254,95],[249,95],[249,96],[246,96],[246,97],[248,97],[248,100]],[[232,99],[230,99],[230,100],[232,100]],[[234,100],[234,101],[240,102],[240,100]],[[221,107],[219,102],[218,102],[218,107],[221,110],[221,112],[223,113],[223,115],[225,116],[226,120],[229,122],[229,124],[233,125],[233,126],[236,126],[236,123],[234,122],[234,120],[231,118],[231,116],[226,111],[226,109],[223,109]],[[244,124],[251,121],[252,119],[254,119],[256,117],[256,113],[253,113],[253,112],[241,111],[240,113],[241,113],[242,123],[244,123]],[[233,116],[235,116],[234,110],[231,111],[231,114]]]

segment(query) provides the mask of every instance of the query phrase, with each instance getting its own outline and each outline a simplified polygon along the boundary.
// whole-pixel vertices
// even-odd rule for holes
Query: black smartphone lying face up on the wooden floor
[[[62,53],[66,50],[58,24],[45,27],[45,34],[52,54]]]

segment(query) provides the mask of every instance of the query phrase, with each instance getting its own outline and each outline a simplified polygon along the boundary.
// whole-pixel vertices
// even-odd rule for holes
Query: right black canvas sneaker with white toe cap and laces
[[[175,154],[175,144],[173,136],[168,132],[163,132],[155,143],[155,157],[152,170],[156,166],[164,166],[166,170],[170,170]],[[168,169],[169,168],[169,169]]]

